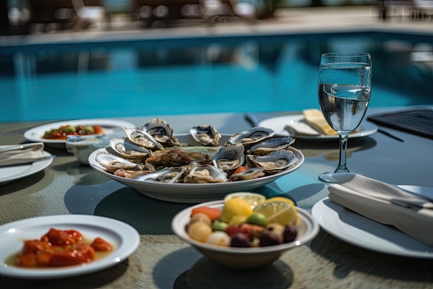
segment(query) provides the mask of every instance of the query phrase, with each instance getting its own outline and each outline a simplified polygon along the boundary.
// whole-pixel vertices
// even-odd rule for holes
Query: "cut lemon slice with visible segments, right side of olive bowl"
[[[268,222],[279,222],[284,226],[294,226],[297,223],[297,211],[293,202],[276,200],[264,202],[255,207],[254,212],[264,214]]]

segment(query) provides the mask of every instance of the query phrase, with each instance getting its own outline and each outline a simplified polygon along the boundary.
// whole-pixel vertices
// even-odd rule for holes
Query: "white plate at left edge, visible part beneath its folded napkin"
[[[50,157],[49,152],[44,151],[46,157]],[[41,170],[44,170],[53,162],[53,158],[43,159],[41,161],[34,161],[31,164],[17,164],[15,166],[2,166],[0,167],[0,184],[12,182],[15,179],[21,179],[33,175]]]

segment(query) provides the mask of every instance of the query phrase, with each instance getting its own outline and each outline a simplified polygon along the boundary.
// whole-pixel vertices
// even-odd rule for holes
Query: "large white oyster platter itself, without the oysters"
[[[224,143],[228,137],[228,134],[221,136],[221,143]],[[190,134],[177,134],[176,138],[181,143],[189,143],[192,146],[197,146],[198,144],[192,139]],[[114,179],[126,186],[130,186],[136,189],[140,193],[147,195],[150,198],[155,198],[158,200],[165,200],[169,202],[205,202],[209,200],[219,200],[221,197],[227,193],[232,193],[235,191],[250,191],[256,189],[259,186],[264,186],[275,179],[292,173],[297,170],[304,163],[304,155],[300,150],[291,148],[298,159],[295,166],[288,168],[287,170],[277,173],[275,175],[269,175],[266,177],[259,177],[258,179],[249,179],[246,181],[239,182],[223,182],[214,184],[167,184],[167,183],[156,183],[156,182],[143,182],[136,179],[127,179],[125,177],[118,177],[111,173],[107,173],[105,169],[95,161],[95,157],[98,152],[107,151],[107,148],[100,148],[92,152],[89,156],[89,166],[95,169],[102,175],[105,175],[111,179]],[[110,151],[111,152],[111,151]]]

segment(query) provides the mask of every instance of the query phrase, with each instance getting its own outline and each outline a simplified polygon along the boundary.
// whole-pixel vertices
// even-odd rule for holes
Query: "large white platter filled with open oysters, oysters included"
[[[227,193],[264,186],[302,166],[304,155],[291,146],[295,140],[274,136],[268,128],[220,134],[212,125],[174,134],[162,119],[151,119],[141,128],[125,128],[125,138],[111,139],[110,146],[95,150],[89,166],[150,198],[219,200]]]

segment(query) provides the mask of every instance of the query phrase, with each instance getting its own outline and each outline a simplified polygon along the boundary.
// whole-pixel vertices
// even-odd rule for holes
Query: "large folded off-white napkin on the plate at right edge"
[[[433,246],[433,202],[376,179],[341,173],[329,186],[329,199],[342,207]]]

